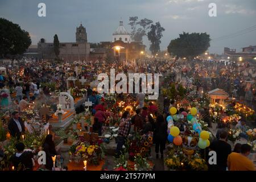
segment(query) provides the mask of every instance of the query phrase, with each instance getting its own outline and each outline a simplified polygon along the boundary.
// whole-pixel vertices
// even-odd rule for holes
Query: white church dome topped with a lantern
[[[127,32],[127,30],[123,26],[123,21],[119,22],[119,27],[113,33],[113,42],[117,40],[121,40],[122,42],[125,42],[125,43],[131,42],[130,34]]]

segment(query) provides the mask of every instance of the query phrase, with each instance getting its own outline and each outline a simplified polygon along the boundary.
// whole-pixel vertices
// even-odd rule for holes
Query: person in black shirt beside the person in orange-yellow
[[[213,171],[226,171],[228,155],[232,152],[228,144],[228,132],[220,131],[220,139],[213,141],[209,149],[217,154],[217,164],[212,165]]]

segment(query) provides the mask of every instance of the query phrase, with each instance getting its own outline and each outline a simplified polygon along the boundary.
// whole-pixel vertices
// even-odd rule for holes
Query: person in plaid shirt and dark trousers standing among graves
[[[125,111],[122,115],[120,125],[119,125],[119,130],[118,130],[117,148],[115,150],[115,155],[117,157],[121,155],[123,144],[125,144],[125,140],[129,135],[130,126],[131,126],[130,114],[129,114],[129,111]]]

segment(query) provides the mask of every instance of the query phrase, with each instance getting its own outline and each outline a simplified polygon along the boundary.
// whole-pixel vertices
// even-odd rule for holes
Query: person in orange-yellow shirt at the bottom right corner
[[[248,158],[251,147],[249,144],[242,144],[241,154],[232,152],[228,156],[229,171],[255,171],[253,162]]]

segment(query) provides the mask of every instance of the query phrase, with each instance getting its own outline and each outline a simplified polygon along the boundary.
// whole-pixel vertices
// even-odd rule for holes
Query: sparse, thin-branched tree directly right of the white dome
[[[129,25],[131,26],[131,39],[136,42],[142,42],[143,36],[147,35],[146,32],[153,21],[147,18],[138,21],[138,16],[131,16],[129,21]],[[141,27],[137,28],[137,25]]]

